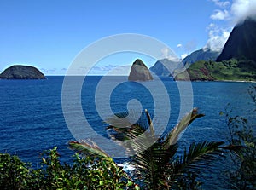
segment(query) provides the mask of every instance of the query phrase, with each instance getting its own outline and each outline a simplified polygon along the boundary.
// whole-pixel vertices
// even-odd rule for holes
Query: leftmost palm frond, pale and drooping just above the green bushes
[[[110,158],[108,153],[105,153],[94,141],[69,141],[68,147],[74,151],[83,153],[84,155]]]

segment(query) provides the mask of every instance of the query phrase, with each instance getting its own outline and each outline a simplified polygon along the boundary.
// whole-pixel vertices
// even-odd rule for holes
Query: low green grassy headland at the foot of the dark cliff
[[[253,60],[198,61],[187,72],[176,73],[176,80],[191,81],[256,81],[256,62]]]

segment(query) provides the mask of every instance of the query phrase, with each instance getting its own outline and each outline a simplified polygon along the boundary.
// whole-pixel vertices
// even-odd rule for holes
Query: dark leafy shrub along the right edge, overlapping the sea
[[[256,86],[249,89],[249,94],[256,106]],[[256,109],[253,112],[256,112]],[[248,124],[246,118],[234,114],[230,107],[226,107],[222,114],[230,131],[230,143],[240,147],[230,152],[230,187],[256,189],[256,136],[253,133],[253,126]]]

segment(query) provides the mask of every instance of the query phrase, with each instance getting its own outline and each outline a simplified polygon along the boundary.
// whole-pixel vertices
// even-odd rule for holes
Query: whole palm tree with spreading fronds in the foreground
[[[222,153],[224,142],[203,141],[192,143],[183,155],[177,155],[178,140],[183,131],[196,118],[204,115],[198,113],[197,108],[185,115],[181,121],[165,135],[154,134],[154,125],[147,110],[146,121],[119,128],[119,119],[125,118],[127,113],[117,114],[117,118],[108,118],[109,135],[117,142],[130,140],[125,145],[126,152],[131,155],[131,165],[136,169],[133,181],[143,189],[195,189],[199,185],[197,176],[200,176],[202,167],[212,164]],[[126,142],[126,141],[125,141]],[[85,155],[109,157],[96,144],[88,141],[70,141],[69,147]]]

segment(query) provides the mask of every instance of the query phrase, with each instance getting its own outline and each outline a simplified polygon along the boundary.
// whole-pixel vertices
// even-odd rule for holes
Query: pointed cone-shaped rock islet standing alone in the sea
[[[153,80],[148,67],[143,63],[142,60],[135,60],[131,66],[131,72],[129,74],[128,80],[130,81],[148,81]]]

